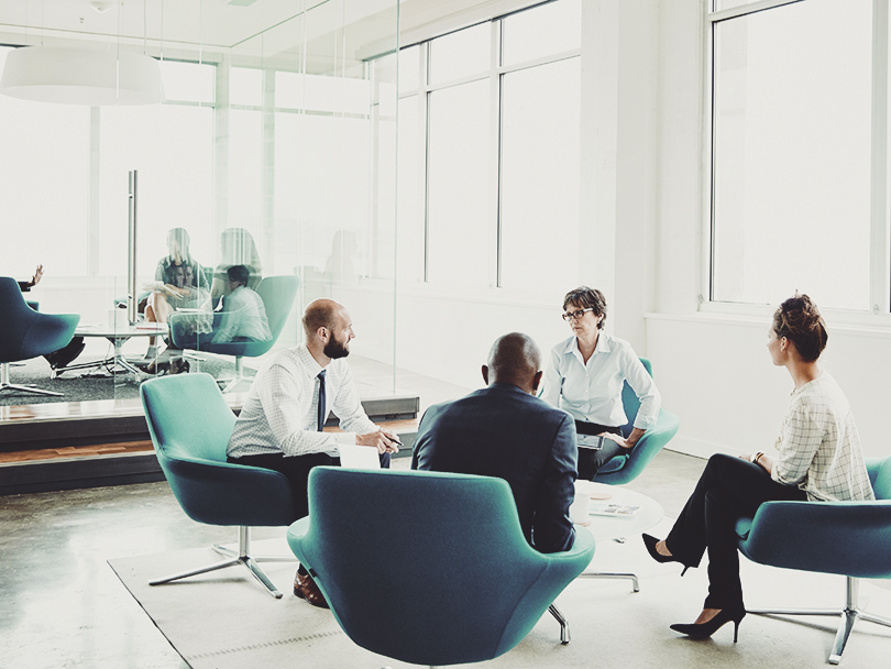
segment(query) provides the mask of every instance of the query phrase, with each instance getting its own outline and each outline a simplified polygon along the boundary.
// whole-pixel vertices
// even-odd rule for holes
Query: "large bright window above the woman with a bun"
[[[873,142],[872,4],[747,13],[740,0],[715,2],[713,300],[772,304],[799,289],[868,310],[884,292],[871,263],[887,224],[871,208],[873,152],[884,151]]]

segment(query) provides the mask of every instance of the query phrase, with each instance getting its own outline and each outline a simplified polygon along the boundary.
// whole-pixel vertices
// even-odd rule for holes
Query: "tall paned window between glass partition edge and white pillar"
[[[578,281],[580,18],[557,0],[402,52],[400,276],[530,297]]]

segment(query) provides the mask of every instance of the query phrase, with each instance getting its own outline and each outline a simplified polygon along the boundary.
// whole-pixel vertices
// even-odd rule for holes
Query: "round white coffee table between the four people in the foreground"
[[[606,485],[605,483],[595,483],[592,481],[576,481],[575,490],[597,496],[609,495],[606,500],[592,500],[592,511],[600,504],[622,504],[640,507],[637,515],[630,517],[601,516],[590,513],[590,525],[585,527],[594,535],[595,539],[615,539],[624,542],[625,537],[648,530],[666,515],[662,505],[652,497],[619,485]],[[637,574],[634,573],[585,571],[581,575],[592,579],[630,579],[634,583],[635,592],[640,592]]]

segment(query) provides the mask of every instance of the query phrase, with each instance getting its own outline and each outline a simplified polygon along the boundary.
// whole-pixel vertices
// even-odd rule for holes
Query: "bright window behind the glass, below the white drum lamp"
[[[0,70],[9,47],[0,47]],[[0,220],[21,245],[0,244],[6,273],[36,262],[53,277],[127,272],[128,172],[140,172],[140,272],[184,227],[209,249],[213,211],[216,67],[162,63],[166,105],[89,108],[0,96]],[[50,243],[52,242],[52,243]],[[210,262],[210,257],[199,257]]]

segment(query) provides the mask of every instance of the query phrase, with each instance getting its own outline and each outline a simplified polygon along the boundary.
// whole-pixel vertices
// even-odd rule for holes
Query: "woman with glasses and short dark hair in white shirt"
[[[591,481],[604,463],[629,453],[656,425],[662,399],[631,344],[604,332],[603,293],[587,286],[570,290],[563,298],[563,311],[573,334],[551,349],[541,398],[575,418],[579,479]],[[620,429],[628,423],[622,404],[626,381],[640,401],[627,438]]]

